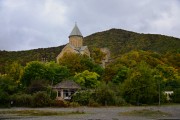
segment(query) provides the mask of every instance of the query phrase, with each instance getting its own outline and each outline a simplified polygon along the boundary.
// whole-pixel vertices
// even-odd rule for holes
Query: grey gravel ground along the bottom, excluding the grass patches
[[[170,113],[171,116],[159,116],[154,118],[152,116],[124,116],[121,112],[128,112],[133,110],[160,110],[162,112]],[[0,109],[5,110],[47,110],[47,111],[83,111],[86,114],[66,115],[66,116],[13,116],[0,115],[0,120],[180,120],[180,105],[172,106],[146,106],[146,107],[79,107],[79,108],[11,108]]]

